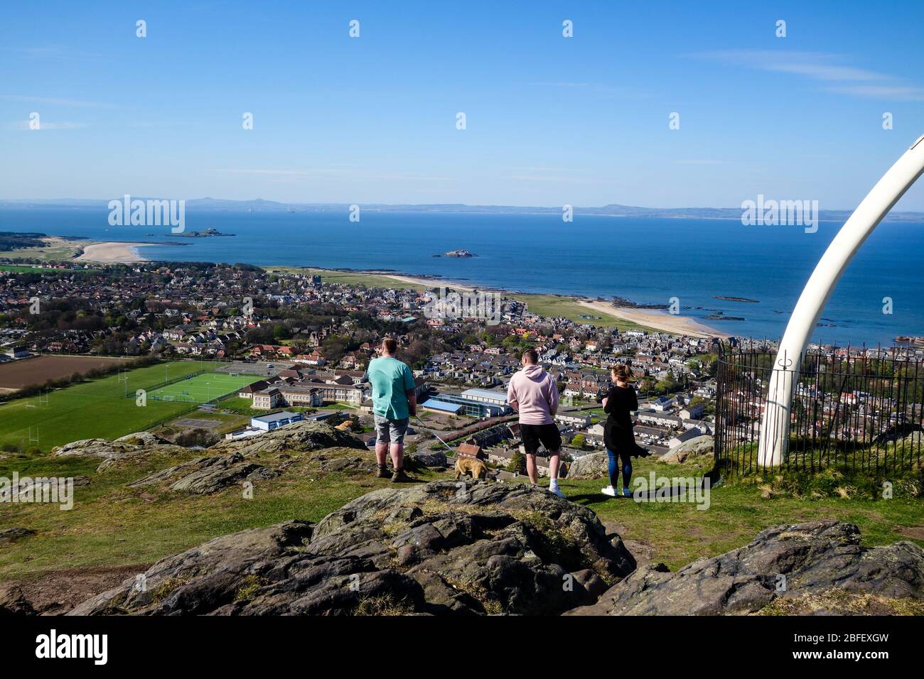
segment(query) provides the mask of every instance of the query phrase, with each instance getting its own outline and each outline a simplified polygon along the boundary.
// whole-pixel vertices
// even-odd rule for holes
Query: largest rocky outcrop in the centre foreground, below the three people
[[[206,542],[71,614],[560,613],[635,568],[589,509],[522,484],[373,491]]]

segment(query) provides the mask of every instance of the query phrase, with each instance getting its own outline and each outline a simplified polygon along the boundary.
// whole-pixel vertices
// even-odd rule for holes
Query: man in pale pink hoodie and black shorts
[[[562,435],[553,420],[558,410],[558,385],[552,375],[542,370],[535,349],[523,352],[523,370],[510,379],[507,403],[519,413],[526,470],[532,485],[536,485],[536,453],[541,443],[549,452],[549,491],[558,497],[565,497],[565,493],[558,488]]]

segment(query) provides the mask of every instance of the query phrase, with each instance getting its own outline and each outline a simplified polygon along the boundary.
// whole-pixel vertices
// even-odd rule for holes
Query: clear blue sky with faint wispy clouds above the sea
[[[852,209],[924,133],[924,3],[574,5],[7,3],[0,198]]]

